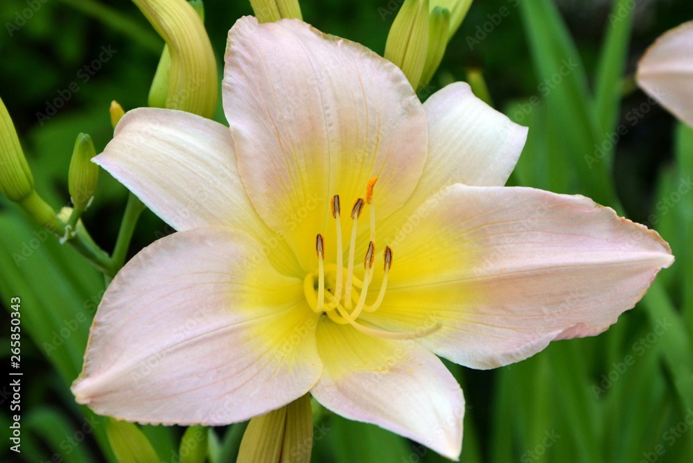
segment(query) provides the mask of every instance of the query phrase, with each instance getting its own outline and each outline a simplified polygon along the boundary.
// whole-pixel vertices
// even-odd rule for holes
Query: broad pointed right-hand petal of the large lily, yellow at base
[[[364,320],[412,331],[439,356],[487,369],[556,339],[595,335],[674,261],[656,231],[582,196],[457,184],[392,245],[383,306]]]

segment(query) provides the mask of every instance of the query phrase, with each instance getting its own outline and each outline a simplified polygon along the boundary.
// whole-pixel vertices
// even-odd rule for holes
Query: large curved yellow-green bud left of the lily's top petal
[[[133,1],[166,41],[150,105],[211,118],[218,98],[216,58],[198,12],[185,0]]]

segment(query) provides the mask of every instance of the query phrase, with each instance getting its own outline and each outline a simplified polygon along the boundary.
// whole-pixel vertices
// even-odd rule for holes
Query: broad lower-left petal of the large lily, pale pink
[[[207,227],[134,256],[96,313],[77,401],[140,423],[222,425],[306,394],[322,369],[317,315],[301,281],[254,263],[258,247]]]

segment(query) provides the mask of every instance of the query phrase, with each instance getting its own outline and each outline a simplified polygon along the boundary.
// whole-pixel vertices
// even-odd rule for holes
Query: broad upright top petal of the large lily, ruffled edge
[[[249,196],[267,225],[292,231],[286,241],[306,269],[315,234],[334,228],[333,195],[351,207],[377,176],[387,216],[421,176],[426,113],[401,70],[359,44],[301,21],[239,19],[223,94]]]

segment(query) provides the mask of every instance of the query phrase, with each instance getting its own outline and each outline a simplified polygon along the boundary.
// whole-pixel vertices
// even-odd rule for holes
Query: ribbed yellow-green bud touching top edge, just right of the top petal
[[[414,89],[426,64],[429,23],[428,0],[405,0],[385,43],[385,58],[402,69]]]

